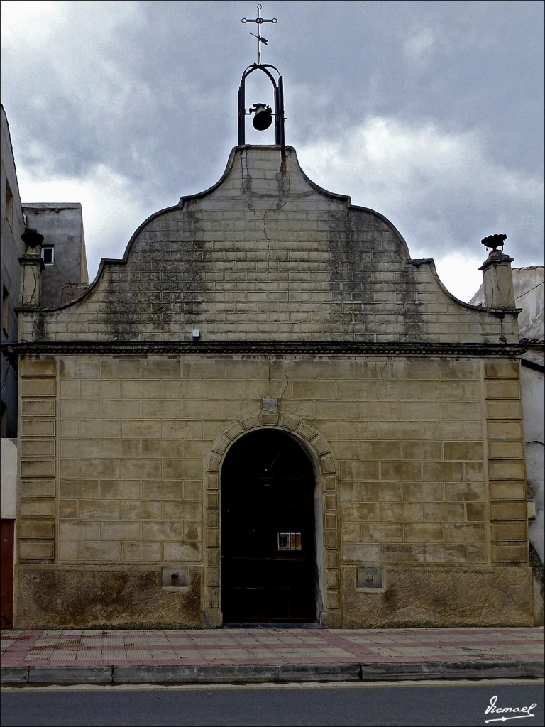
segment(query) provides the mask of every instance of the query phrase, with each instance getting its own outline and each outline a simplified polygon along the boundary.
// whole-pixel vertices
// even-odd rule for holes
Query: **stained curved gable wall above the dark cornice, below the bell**
[[[21,316],[24,340],[517,342],[445,291],[378,212],[305,177],[293,149],[236,148],[205,193],[153,214],[84,298]]]

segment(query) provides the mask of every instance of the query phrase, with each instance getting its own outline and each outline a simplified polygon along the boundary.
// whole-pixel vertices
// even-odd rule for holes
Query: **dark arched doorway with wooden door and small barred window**
[[[225,623],[316,620],[315,476],[296,438],[248,433],[222,467]]]

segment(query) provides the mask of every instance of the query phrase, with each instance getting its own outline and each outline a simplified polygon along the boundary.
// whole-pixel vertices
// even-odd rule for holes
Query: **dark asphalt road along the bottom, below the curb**
[[[544,724],[543,680],[6,688],[1,727]],[[497,699],[494,700],[493,698]],[[495,704],[525,711],[486,713]],[[528,707],[534,704],[528,715]],[[503,718],[507,717],[508,720]],[[485,721],[488,720],[488,721]],[[493,721],[490,721],[493,720]]]

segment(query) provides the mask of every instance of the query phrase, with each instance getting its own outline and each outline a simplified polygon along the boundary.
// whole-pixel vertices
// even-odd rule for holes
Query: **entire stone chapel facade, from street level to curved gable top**
[[[508,256],[464,304],[278,144],[68,305],[33,256],[17,627],[533,624]]]

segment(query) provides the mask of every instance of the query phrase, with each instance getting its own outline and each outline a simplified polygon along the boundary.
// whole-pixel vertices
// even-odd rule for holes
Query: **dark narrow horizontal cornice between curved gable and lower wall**
[[[518,343],[366,341],[18,341],[4,344],[17,356],[487,356],[517,357]]]

